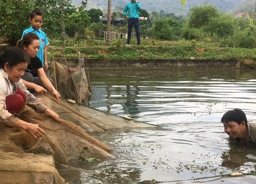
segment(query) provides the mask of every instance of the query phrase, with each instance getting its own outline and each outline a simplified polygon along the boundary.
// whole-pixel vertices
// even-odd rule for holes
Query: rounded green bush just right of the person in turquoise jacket
[[[177,21],[172,18],[165,18],[155,22],[152,27],[153,35],[161,40],[177,39]]]

